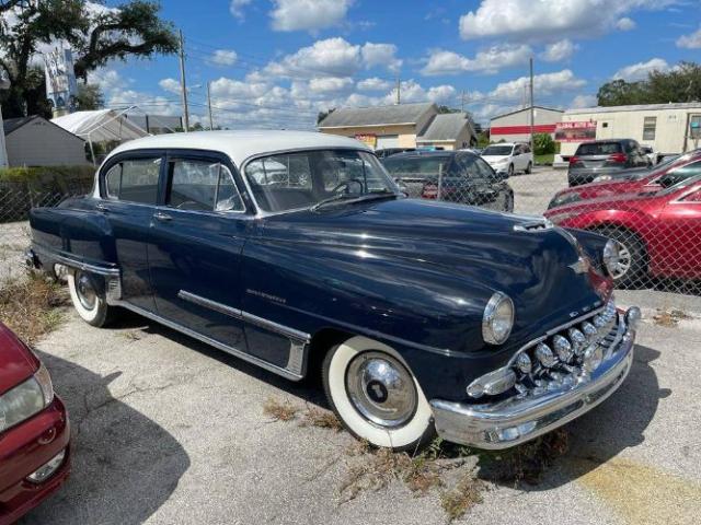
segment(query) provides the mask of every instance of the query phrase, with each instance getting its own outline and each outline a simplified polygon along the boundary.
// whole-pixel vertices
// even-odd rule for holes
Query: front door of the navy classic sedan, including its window
[[[159,316],[245,351],[241,257],[254,229],[221,156],[171,152],[152,214],[149,267]]]

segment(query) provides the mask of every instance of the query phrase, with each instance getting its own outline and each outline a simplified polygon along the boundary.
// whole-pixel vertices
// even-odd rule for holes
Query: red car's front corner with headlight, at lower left
[[[70,428],[38,358],[0,323],[0,525],[14,523],[70,471]]]

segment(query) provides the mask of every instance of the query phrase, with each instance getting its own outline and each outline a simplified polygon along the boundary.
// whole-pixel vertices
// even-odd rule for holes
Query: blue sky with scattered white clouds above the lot
[[[530,56],[536,103],[559,107],[701,61],[699,0],[165,0],[162,15],[185,35],[194,119],[209,81],[227,127],[309,128],[320,109],[391,103],[398,75],[402,102],[464,100],[486,121],[524,103]],[[92,77],[110,106],[162,114],[181,110],[179,79],[175,57]]]

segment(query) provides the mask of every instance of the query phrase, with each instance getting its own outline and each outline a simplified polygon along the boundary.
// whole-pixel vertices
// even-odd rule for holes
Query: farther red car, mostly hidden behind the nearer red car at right
[[[634,172],[634,173],[632,173]],[[579,200],[596,199],[620,194],[654,194],[674,186],[681,180],[701,175],[701,150],[694,150],[660,164],[654,170],[634,170],[621,172],[625,177],[609,175],[609,180],[599,180],[573,188],[566,188],[552,198],[548,209],[570,205]]]

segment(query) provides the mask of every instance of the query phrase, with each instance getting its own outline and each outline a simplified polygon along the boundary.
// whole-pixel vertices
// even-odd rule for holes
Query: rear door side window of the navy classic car
[[[106,197],[112,200],[156,205],[161,159],[126,160],[105,174]]]

